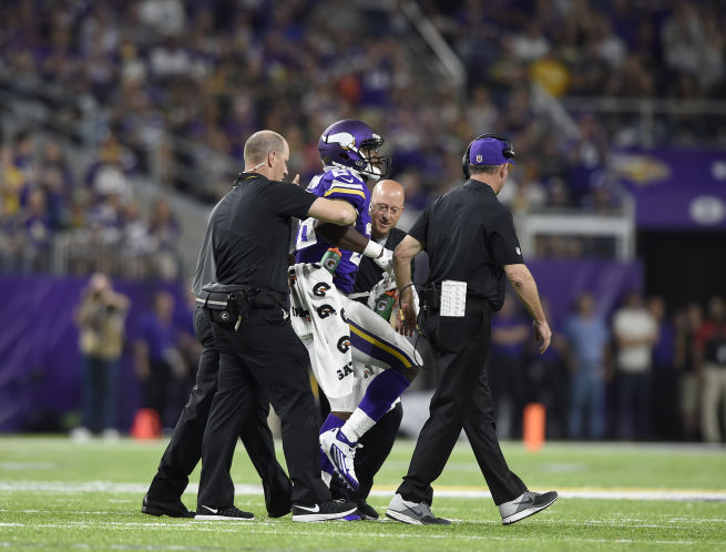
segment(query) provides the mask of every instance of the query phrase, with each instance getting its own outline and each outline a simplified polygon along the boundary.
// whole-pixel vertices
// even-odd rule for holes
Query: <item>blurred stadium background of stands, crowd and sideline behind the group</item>
[[[517,300],[498,315],[502,437],[540,402],[553,439],[726,440],[724,2],[4,0],[0,21],[0,431],[173,427],[245,140],[284,134],[306,184],[357,117],[403,229],[473,137],[514,144],[500,200],[556,337],[535,356]]]

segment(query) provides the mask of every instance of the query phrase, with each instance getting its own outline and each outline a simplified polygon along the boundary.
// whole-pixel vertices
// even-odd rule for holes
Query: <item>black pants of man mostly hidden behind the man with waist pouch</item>
[[[194,311],[194,331],[203,346],[196,384],[192,388],[190,400],[182,410],[172,440],[149,488],[151,500],[173,502],[178,499],[186,489],[190,473],[202,458],[204,428],[209,417],[212,399],[217,391],[219,352],[214,344],[209,318],[201,307]],[[269,401],[264,393],[259,393],[247,411],[248,418],[231,428],[231,431],[236,431],[242,438],[249,459],[263,481],[267,511],[277,513],[289,509],[292,484],[275,458],[273,433],[267,426],[268,413]]]

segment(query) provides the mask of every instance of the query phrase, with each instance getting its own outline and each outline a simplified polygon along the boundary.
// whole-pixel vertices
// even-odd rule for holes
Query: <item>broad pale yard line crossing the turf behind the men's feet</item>
[[[114,494],[144,494],[146,483],[114,483],[111,481],[0,481],[0,492],[109,492]],[[370,492],[372,497],[391,497],[396,487],[376,485]],[[191,483],[186,492],[196,493],[198,484]],[[556,491],[564,499],[602,499],[602,500],[669,500],[686,502],[726,502],[726,490],[706,489],[632,489],[632,488],[596,488],[564,487]],[[235,494],[262,494],[262,485],[235,485]],[[491,493],[481,487],[434,487],[439,498],[490,499]]]

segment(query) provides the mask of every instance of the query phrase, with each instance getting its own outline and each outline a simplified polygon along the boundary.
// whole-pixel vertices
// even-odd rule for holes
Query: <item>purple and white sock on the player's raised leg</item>
[[[358,441],[360,436],[372,428],[390,410],[391,405],[409,385],[410,381],[397,370],[388,369],[380,372],[371,380],[360,405],[340,428],[340,432],[349,441]]]

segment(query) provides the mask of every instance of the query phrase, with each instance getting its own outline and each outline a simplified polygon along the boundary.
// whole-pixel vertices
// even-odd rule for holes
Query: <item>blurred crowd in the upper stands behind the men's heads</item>
[[[400,12],[345,0],[2,2],[0,68],[90,91],[140,170],[209,201],[234,170],[180,140],[241,160],[253,131],[279,130],[305,182],[320,131],[365,119],[386,137],[413,209],[460,182],[461,152],[482,132],[515,144],[521,162],[503,196],[515,211],[620,206],[609,151],[644,140],[640,116],[577,113],[579,137],[566,137],[539,116],[532,82],[554,96],[726,96],[717,1],[421,4],[463,61],[463,96],[426,73]],[[726,137],[719,117],[656,123],[656,142]]]

